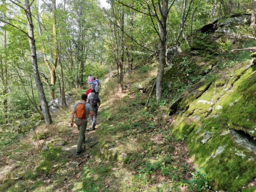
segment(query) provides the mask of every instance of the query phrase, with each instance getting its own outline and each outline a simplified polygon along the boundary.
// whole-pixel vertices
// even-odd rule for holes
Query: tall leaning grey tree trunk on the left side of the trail
[[[27,15],[27,30],[28,30],[28,36],[29,36],[29,46],[31,51],[31,63],[32,63],[32,69],[33,69],[33,75],[35,78],[36,86],[37,86],[37,92],[38,96],[41,102],[41,107],[43,111],[43,117],[45,120],[45,124],[49,125],[52,123],[52,118],[50,116],[50,112],[48,109],[48,103],[46,101],[44,91],[43,91],[43,84],[40,79],[38,66],[37,66],[37,51],[36,51],[36,41],[34,38],[34,26],[32,22],[32,14],[30,10],[30,4],[29,0],[25,0],[25,12]]]

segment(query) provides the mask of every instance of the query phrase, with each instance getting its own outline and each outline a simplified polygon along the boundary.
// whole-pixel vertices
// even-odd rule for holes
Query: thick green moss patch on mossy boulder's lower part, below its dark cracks
[[[213,189],[237,191],[255,176],[256,162],[251,159],[251,151],[236,144],[229,134],[220,136],[225,120],[219,117],[204,121],[200,133],[194,129],[188,136],[187,145],[190,155],[195,155],[196,163],[205,167]],[[205,131],[212,133],[212,137],[203,144],[201,135]],[[217,155],[219,148],[224,150]]]

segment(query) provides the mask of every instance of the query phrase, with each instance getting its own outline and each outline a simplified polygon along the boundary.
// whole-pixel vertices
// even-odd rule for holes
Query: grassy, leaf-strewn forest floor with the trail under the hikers
[[[157,107],[153,99],[146,106],[147,94],[138,92],[155,77],[154,69],[127,75],[122,94],[116,92],[116,79],[102,82],[96,131],[86,131],[82,155],[75,155],[72,106],[55,112],[53,125],[37,127],[38,136],[47,136],[41,153],[33,132],[0,149],[0,191],[189,191],[207,185],[185,142],[172,136],[168,107]],[[75,101],[84,92],[74,90]]]

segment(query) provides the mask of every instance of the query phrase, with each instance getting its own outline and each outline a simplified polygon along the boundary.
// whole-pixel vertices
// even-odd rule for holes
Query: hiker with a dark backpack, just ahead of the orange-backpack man
[[[90,96],[87,98],[87,103],[91,104],[92,110],[94,112],[93,118],[90,117],[90,119],[91,119],[91,126],[92,126],[91,130],[95,130],[98,108],[101,105],[101,100],[96,95],[96,91],[95,90],[91,91]]]

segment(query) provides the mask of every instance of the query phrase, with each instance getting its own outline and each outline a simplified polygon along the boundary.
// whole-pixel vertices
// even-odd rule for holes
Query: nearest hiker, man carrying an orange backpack
[[[89,103],[86,103],[87,96],[83,94],[81,96],[82,101],[75,104],[73,107],[73,111],[71,113],[71,122],[70,126],[74,125],[74,116],[75,116],[75,124],[79,130],[79,137],[77,141],[76,155],[80,155],[82,153],[82,144],[85,142],[85,129],[87,126],[87,119],[90,114],[90,117],[94,116],[93,109]]]

